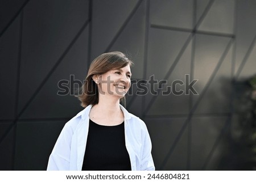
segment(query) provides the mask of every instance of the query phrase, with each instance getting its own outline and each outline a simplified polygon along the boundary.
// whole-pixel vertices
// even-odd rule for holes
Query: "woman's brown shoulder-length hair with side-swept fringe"
[[[82,107],[98,104],[98,87],[93,81],[93,75],[101,75],[110,70],[121,69],[127,65],[133,66],[133,62],[121,52],[104,53],[95,58],[90,64],[85,82],[80,88],[79,95],[77,95]],[[120,103],[125,106],[125,97],[120,99]]]

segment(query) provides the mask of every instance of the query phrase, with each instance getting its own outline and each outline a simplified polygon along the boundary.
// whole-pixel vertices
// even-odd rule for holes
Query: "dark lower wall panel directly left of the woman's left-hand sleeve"
[[[65,122],[18,122],[14,170],[46,170],[49,155]]]

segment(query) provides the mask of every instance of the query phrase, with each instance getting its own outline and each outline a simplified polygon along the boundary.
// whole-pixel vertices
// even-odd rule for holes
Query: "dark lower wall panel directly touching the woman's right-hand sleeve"
[[[185,170],[187,168],[187,129],[181,135],[174,151],[171,150],[185,118],[147,118],[152,140],[152,156],[156,170]]]

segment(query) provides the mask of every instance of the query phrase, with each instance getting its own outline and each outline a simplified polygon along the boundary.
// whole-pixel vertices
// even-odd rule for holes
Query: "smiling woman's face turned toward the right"
[[[123,98],[131,86],[130,65],[102,74],[98,78],[98,83],[100,94]]]

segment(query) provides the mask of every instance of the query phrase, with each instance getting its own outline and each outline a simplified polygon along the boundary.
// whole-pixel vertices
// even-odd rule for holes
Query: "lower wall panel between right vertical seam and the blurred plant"
[[[192,170],[205,170],[205,165],[210,166],[208,169],[218,170],[218,162],[221,160],[225,148],[228,147],[228,143],[225,143],[223,138],[218,139],[222,136],[226,120],[225,117],[194,117],[192,119]],[[218,151],[213,153],[214,150]],[[208,160],[211,158],[214,158],[215,161],[210,164]]]

